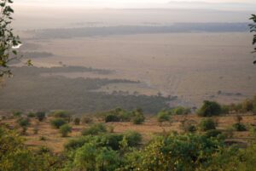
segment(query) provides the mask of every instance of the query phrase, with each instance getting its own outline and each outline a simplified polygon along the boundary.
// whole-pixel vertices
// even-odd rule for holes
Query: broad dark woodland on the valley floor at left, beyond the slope
[[[175,100],[174,97],[160,95],[133,94],[133,92],[117,92],[113,94],[96,92],[110,83],[139,83],[125,79],[100,78],[68,78],[68,77],[42,77],[42,73],[55,73],[58,71],[74,70],[73,66],[63,68],[14,68],[15,77],[6,80],[6,85],[0,89],[0,108],[2,110],[66,110],[77,113],[94,113],[96,111],[109,111],[117,106],[125,110],[140,107],[149,114],[160,109],[168,108],[167,102]],[[81,68],[81,70],[86,70]],[[88,69],[94,71],[94,69]],[[11,92],[11,93],[10,93]]]

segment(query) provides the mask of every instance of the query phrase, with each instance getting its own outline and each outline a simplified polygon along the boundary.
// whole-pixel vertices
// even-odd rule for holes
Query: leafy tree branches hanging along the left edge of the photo
[[[9,69],[9,62],[17,60],[17,51],[15,48],[19,47],[20,37],[15,36],[14,29],[11,28],[12,14],[15,12],[10,7],[12,0],[0,0],[0,77],[4,75],[11,75],[12,72]],[[31,66],[31,60],[27,62],[28,66]]]

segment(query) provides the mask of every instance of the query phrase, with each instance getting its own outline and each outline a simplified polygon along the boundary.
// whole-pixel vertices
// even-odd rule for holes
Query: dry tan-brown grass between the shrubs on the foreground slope
[[[230,128],[232,124],[236,123],[236,115],[224,116],[224,117],[214,117],[218,121],[218,129],[226,130]],[[243,115],[241,123],[247,125],[256,124],[256,116],[253,115]],[[201,117],[196,115],[189,116],[174,116],[172,117],[172,123],[160,123],[157,122],[156,117],[147,117],[146,122],[142,125],[134,125],[132,123],[107,123],[107,126],[113,127],[113,133],[121,134],[128,130],[137,131],[140,134],[143,134],[143,142],[146,143],[152,138],[154,134],[161,134],[164,132],[177,131],[182,132],[181,121],[184,119],[188,121],[193,121],[195,124],[200,123]],[[96,119],[95,119],[96,120]],[[50,118],[47,118],[42,123],[39,123],[35,119],[32,119],[31,126],[27,129],[27,134],[24,136],[26,139],[26,145],[31,146],[32,148],[37,148],[38,146],[48,146],[55,152],[63,151],[63,145],[67,143],[68,140],[73,139],[74,137],[80,136],[80,132],[83,128],[90,127],[89,124],[74,125],[72,134],[69,134],[69,137],[63,138],[59,133],[58,129],[52,128],[49,124]],[[96,121],[97,123],[98,121]],[[19,128],[15,119],[6,119],[0,122],[0,124],[8,123],[13,128]],[[33,129],[38,128],[38,134],[34,134]],[[40,140],[40,137],[44,137],[45,140]],[[249,132],[234,132],[233,138],[231,140],[236,141],[246,141],[248,140]]]

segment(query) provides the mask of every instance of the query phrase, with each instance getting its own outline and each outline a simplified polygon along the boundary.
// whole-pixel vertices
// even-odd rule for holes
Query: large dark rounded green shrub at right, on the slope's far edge
[[[205,100],[197,114],[199,117],[212,117],[220,115],[221,112],[221,106],[217,102]]]

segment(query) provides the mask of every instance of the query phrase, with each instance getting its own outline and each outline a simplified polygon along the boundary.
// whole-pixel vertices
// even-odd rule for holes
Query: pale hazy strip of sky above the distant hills
[[[113,9],[255,10],[256,0],[15,0],[19,5]]]

